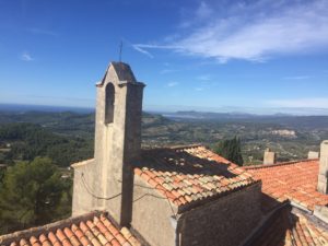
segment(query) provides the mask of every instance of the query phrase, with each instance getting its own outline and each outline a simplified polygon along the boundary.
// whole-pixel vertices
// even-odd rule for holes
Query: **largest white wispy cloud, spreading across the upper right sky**
[[[201,20],[194,21],[174,40],[136,46],[143,50],[172,49],[222,63],[231,59],[262,62],[279,55],[327,50],[326,0],[226,2],[201,2],[195,10],[195,16]]]

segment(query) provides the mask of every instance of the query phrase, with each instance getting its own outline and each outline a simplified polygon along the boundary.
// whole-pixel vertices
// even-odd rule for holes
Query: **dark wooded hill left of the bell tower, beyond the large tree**
[[[35,124],[2,125],[0,140],[11,144],[10,151],[2,153],[0,160],[7,164],[13,164],[14,160],[32,161],[36,156],[48,156],[58,166],[69,166],[93,155],[92,140],[60,136]]]

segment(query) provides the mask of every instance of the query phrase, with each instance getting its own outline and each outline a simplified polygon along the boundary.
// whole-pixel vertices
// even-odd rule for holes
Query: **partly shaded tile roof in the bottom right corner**
[[[328,233],[300,211],[284,207],[272,214],[263,230],[246,245],[325,246],[328,245]]]

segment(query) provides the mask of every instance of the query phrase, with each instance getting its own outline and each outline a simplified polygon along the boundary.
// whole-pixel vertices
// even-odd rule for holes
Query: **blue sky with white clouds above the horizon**
[[[327,0],[0,0],[0,103],[94,107],[120,40],[148,110],[328,113]]]

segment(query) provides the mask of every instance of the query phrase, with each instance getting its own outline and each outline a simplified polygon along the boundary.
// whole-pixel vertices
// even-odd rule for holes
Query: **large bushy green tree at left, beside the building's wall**
[[[5,225],[0,232],[8,233],[60,216],[58,208],[70,196],[71,184],[50,159],[36,157],[9,167],[0,186],[0,221]]]

